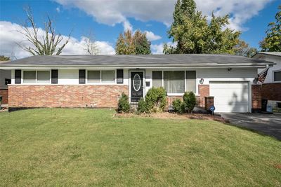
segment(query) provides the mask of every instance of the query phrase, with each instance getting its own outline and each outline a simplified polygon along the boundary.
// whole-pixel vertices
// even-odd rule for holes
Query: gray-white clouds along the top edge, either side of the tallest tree
[[[73,1],[55,0],[63,6],[77,7],[93,16],[97,22],[106,25],[115,25],[126,22],[127,18],[148,21],[156,20],[169,26],[172,22],[172,14],[176,0],[92,0]],[[197,9],[204,15],[231,15],[230,27],[243,29],[243,24],[257,15],[264,6],[273,0],[195,0]]]

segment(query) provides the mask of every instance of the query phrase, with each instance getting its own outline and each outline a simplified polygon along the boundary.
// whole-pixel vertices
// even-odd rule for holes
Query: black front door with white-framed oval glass
[[[143,72],[131,72],[131,102],[143,97]]]

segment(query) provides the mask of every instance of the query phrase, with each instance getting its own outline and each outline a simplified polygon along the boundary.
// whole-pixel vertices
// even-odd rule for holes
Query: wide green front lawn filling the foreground
[[[0,113],[0,186],[281,186],[281,142],[211,120]]]

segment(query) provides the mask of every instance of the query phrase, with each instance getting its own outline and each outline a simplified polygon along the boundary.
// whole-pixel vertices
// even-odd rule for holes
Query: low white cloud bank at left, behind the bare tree
[[[26,39],[22,39],[22,34],[18,33],[17,30],[21,30],[20,25],[0,21],[0,54],[15,58],[22,58],[30,56],[30,53],[22,50],[17,43],[21,43],[22,46],[29,45]],[[39,35],[42,36],[44,31],[39,28]],[[41,37],[39,37],[41,38]],[[67,39],[67,36],[63,36],[63,41]],[[63,42],[62,42],[63,43]],[[98,54],[113,55],[115,54],[115,49],[112,47],[111,43],[107,41],[96,41],[96,46],[98,47]],[[85,55],[86,50],[86,40],[84,37],[81,39],[70,38],[69,43],[63,49],[62,55]]]

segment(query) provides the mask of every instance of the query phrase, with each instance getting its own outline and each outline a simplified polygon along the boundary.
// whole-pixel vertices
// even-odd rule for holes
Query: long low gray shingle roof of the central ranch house
[[[204,67],[265,66],[273,64],[236,55],[58,55],[32,56],[1,67]]]

